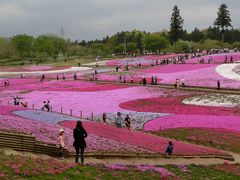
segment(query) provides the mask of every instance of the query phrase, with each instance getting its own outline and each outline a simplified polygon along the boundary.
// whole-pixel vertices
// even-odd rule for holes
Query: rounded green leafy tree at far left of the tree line
[[[30,57],[33,52],[33,42],[34,37],[26,34],[19,34],[13,36],[11,39],[12,43],[15,45],[19,57]]]

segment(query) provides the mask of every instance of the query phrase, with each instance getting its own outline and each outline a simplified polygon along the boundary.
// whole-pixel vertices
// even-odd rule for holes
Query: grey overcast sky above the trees
[[[232,24],[240,25],[240,0],[0,0],[0,36],[60,34],[90,40],[118,31],[169,29],[175,4],[188,31],[206,28],[226,3]]]

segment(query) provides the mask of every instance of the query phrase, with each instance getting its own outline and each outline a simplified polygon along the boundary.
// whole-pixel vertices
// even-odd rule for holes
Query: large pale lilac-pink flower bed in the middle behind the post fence
[[[80,111],[83,112],[83,117],[89,117],[91,113],[98,115],[103,112],[122,111],[119,104],[125,101],[160,95],[162,92],[157,89],[129,87],[97,92],[33,91],[22,94],[21,97],[29,104],[35,104],[38,109],[42,107],[44,100],[49,100],[54,111],[60,112],[62,107],[65,113],[72,109],[73,114],[78,117]]]

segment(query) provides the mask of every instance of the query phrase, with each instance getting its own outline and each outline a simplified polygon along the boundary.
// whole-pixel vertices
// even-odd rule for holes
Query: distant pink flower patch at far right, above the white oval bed
[[[228,58],[228,63],[230,62],[230,57],[232,56],[233,61],[239,61],[240,60],[240,53],[223,53],[223,54],[214,54],[214,55],[207,55],[203,56],[205,63],[208,62],[209,57],[213,58],[213,63],[224,63],[225,57]],[[188,61],[187,63],[198,63],[199,58],[193,58]]]

